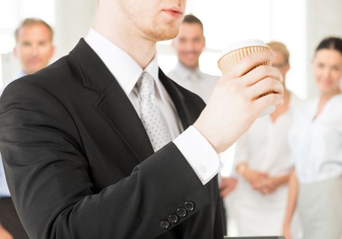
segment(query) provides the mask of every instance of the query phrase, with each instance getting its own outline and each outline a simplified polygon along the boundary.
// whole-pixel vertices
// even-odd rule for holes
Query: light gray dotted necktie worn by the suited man
[[[147,132],[153,150],[157,152],[171,141],[166,122],[161,117],[155,97],[155,81],[148,72],[142,72],[137,81],[137,90],[140,95],[140,117]]]

